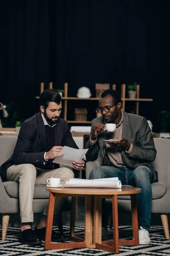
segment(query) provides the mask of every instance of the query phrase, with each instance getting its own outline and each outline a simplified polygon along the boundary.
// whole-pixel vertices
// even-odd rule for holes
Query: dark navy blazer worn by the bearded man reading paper
[[[59,118],[55,127],[55,146],[68,146],[78,148],[73,140],[68,122]],[[23,122],[14,154],[0,166],[0,177],[6,181],[6,170],[11,165],[31,163],[36,167],[44,167],[45,153],[45,125],[42,120],[41,112]]]

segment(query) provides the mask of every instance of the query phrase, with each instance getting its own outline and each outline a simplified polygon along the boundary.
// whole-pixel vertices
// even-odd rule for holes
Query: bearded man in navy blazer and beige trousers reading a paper
[[[60,157],[63,146],[78,148],[74,142],[68,123],[60,118],[62,98],[55,89],[48,89],[39,98],[40,112],[23,122],[18,134],[12,156],[0,167],[3,181],[19,182],[21,231],[19,241],[23,244],[39,244],[45,239],[48,205],[45,207],[42,219],[34,231],[32,230],[33,197],[35,184],[47,184],[49,177],[60,178],[64,184],[74,172],[66,167],[59,168],[53,163],[55,157]],[[73,162],[73,168],[81,170],[84,161]],[[56,198],[54,218],[59,214],[64,198]],[[51,241],[62,241],[52,230]]]

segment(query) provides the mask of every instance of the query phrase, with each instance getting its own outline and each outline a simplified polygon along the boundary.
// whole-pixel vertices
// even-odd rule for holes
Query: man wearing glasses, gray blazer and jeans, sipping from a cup
[[[116,90],[105,90],[99,98],[97,111],[102,115],[92,121],[86,159],[96,160],[100,150],[103,163],[92,169],[90,179],[118,177],[122,185],[142,189],[137,194],[139,244],[150,244],[151,183],[157,181],[157,172],[150,163],[156,158],[156,149],[147,120],[125,113],[121,106],[121,97]],[[106,131],[106,123],[116,124],[115,131]],[[108,139],[113,141],[104,141]],[[105,207],[102,207],[102,239],[108,236],[104,211]]]

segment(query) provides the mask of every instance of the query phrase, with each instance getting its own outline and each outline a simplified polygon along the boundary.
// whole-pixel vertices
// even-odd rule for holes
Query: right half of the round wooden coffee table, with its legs
[[[119,253],[119,246],[139,245],[138,233],[138,215],[136,194],[140,193],[141,189],[133,186],[122,186],[122,189],[107,189],[98,194],[94,194],[94,244],[95,248],[105,250],[110,253]],[[102,194],[103,193],[103,194]],[[132,240],[119,240],[118,230],[118,195],[130,195],[131,213],[132,213]],[[113,241],[102,241],[102,198],[112,200],[113,214]]]

